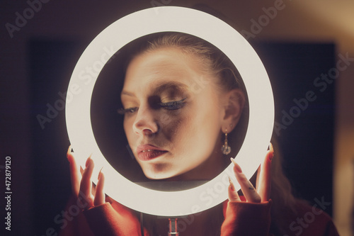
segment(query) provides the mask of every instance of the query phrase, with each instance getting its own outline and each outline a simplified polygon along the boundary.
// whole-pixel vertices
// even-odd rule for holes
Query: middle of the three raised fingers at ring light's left
[[[81,179],[81,183],[80,183],[80,191],[81,194],[84,194],[84,196],[86,196],[86,201],[88,202],[88,208],[90,208],[91,206],[93,206],[93,196],[91,194],[91,176],[92,176],[92,172],[93,172],[93,160],[91,159],[91,157],[89,157],[86,161],[86,168],[84,169],[84,173],[82,174],[82,179]]]

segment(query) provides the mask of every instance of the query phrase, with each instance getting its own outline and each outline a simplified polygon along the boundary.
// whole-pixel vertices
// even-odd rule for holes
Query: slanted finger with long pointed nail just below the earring
[[[258,195],[256,189],[254,189],[253,184],[247,179],[247,177],[242,173],[241,167],[236,161],[232,158],[232,162],[234,163],[234,174],[236,176],[239,185],[241,186],[242,193],[246,198],[246,201],[251,203],[260,203],[261,197]]]

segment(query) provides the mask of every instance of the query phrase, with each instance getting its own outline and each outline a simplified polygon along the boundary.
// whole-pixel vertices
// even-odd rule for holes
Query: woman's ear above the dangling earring
[[[241,89],[232,89],[224,95],[224,117],[222,118],[222,132],[230,133],[241,118],[246,97]]]

